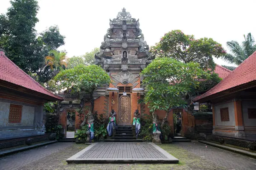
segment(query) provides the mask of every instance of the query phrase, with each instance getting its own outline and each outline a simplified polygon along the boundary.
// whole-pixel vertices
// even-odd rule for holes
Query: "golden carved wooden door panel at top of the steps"
[[[127,94],[129,95],[129,94]],[[119,125],[131,125],[131,99],[130,96],[119,97]]]

